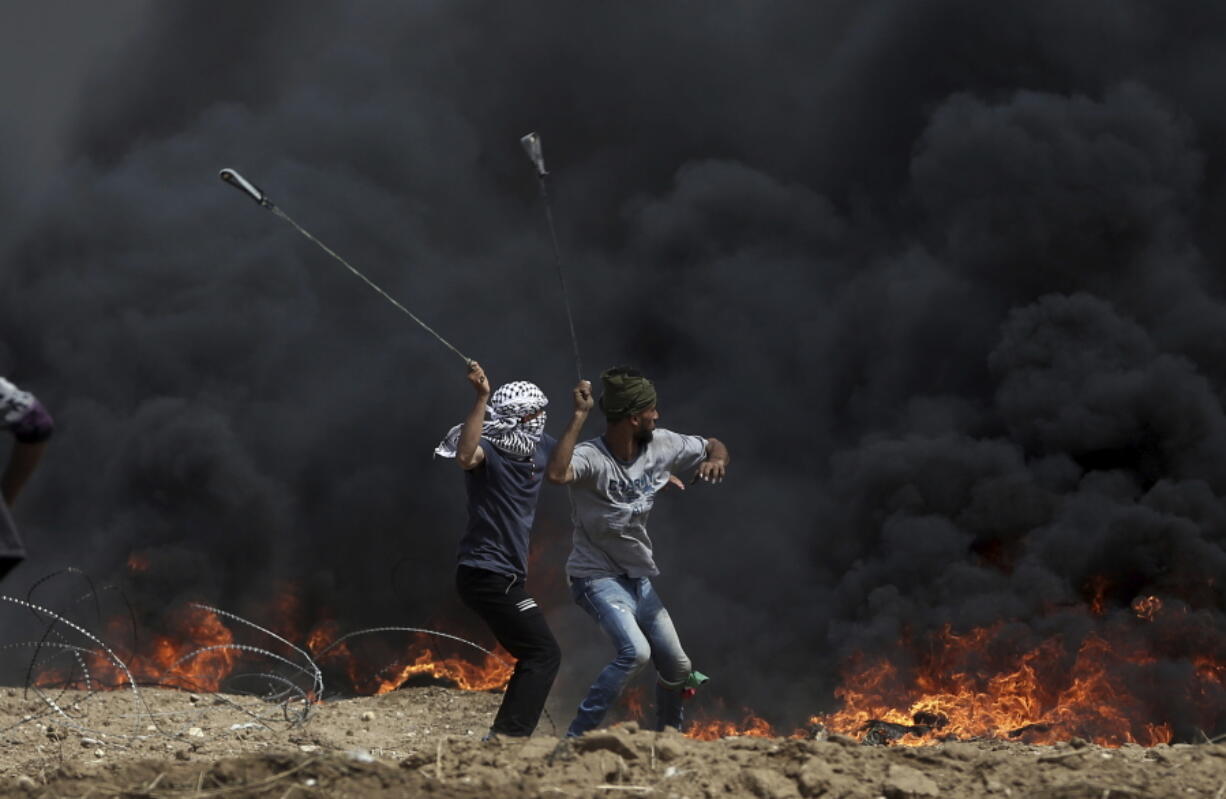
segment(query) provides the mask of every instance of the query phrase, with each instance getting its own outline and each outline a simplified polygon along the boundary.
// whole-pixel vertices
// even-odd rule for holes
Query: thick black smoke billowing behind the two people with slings
[[[1075,645],[1149,594],[1208,630],[1157,647],[1183,674],[1226,641],[1224,60],[1193,1],[156,5],[4,237],[0,370],[60,424],[9,582],[139,551],[166,602],[295,581],[349,626],[468,624],[429,456],[462,363],[216,173],[539,382],[558,433],[537,130],[587,376],[639,365],[733,452],[651,524],[714,694],[794,723],[853,651]],[[546,491],[566,713],[606,645]],[[1105,616],[1053,613],[1097,578]]]

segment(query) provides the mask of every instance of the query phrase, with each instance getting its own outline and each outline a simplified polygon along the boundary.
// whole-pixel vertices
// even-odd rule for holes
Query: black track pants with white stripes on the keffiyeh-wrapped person
[[[562,651],[544,614],[522,580],[484,569],[460,566],[456,591],[516,661],[490,729],[500,735],[531,735],[562,665]]]

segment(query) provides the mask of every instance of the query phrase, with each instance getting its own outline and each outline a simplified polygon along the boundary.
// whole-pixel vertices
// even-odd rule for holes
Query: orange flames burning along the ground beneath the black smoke
[[[134,553],[128,567],[139,572],[148,569],[150,562]],[[1106,615],[1110,583],[1092,577],[1084,591],[1090,612]],[[1183,619],[1190,624],[1194,620],[1187,605],[1177,600],[1163,604],[1154,596],[1137,597],[1132,612],[1145,623],[1167,624]],[[424,637],[395,649],[381,642],[374,647],[383,647],[381,653],[371,657],[365,646],[351,648],[351,642],[331,646],[338,637],[338,625],[331,620],[314,625],[304,637],[298,632],[304,627],[303,605],[288,587],[270,603],[267,615],[275,618],[270,626],[288,640],[305,640],[306,648],[321,665],[343,672],[351,690],[358,694],[387,694],[414,676],[446,680],[462,690],[494,690],[505,685],[514,669],[510,656],[501,648],[472,662],[445,657],[430,646],[432,638]],[[1129,620],[1125,614],[1113,619],[1127,621],[1128,630],[1155,630],[1149,624]],[[1140,643],[1129,645],[1128,636],[1119,632],[1122,627],[1106,621],[1105,629],[1113,630],[1110,640],[1091,634],[1075,652],[1060,638],[1049,638],[1016,653],[1005,635],[1005,625],[997,624],[966,632],[945,626],[931,640],[906,640],[901,646],[911,652],[911,658],[890,661],[856,654],[846,663],[842,685],[835,691],[842,710],[814,716],[809,722],[832,732],[858,738],[875,735],[883,743],[905,745],[943,738],[1000,738],[1048,744],[1073,735],[1102,745],[1171,741],[1172,727],[1152,719],[1152,711],[1129,694],[1124,679],[1145,676],[1157,659]],[[234,642],[234,636],[210,610],[177,609],[166,614],[158,626],[166,632],[145,635],[139,652],[116,649],[139,683],[216,691],[244,657],[237,649],[226,648]],[[113,620],[101,637],[129,640],[131,631],[126,618]],[[208,647],[218,648],[188,657]],[[389,661],[391,665],[379,672],[370,665]],[[1190,663],[1193,702],[1200,697],[1201,703],[1211,705],[1211,699],[1226,687],[1226,662],[1198,656],[1186,663]],[[128,683],[124,672],[103,653],[87,656],[87,664],[96,687],[99,684],[118,687]],[[67,680],[63,674],[44,672],[38,681],[51,685]],[[72,683],[85,686],[83,680],[74,679]],[[623,697],[629,718],[644,717],[642,694],[641,687],[631,687]],[[765,719],[748,710],[743,713],[739,722],[694,721],[685,734],[699,740],[776,735]]]

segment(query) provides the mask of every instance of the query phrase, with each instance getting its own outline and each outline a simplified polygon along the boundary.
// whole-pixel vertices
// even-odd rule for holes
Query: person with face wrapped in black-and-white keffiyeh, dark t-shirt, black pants
[[[490,395],[477,362],[468,365],[476,402],[435,453],[465,471],[468,526],[460,539],[456,589],[515,658],[487,739],[531,735],[562,664],[562,651],[526,587],[528,537],[546,463],[557,441],[544,433],[544,393],[527,381]],[[487,418],[488,415],[488,418]]]

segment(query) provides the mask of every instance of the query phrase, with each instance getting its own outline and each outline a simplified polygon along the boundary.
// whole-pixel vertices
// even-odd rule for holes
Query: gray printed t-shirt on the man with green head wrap
[[[603,439],[575,445],[570,468],[574,548],[566,560],[571,577],[655,577],[647,515],[669,474],[688,479],[706,458],[706,439],[656,428],[639,457],[613,457]]]

